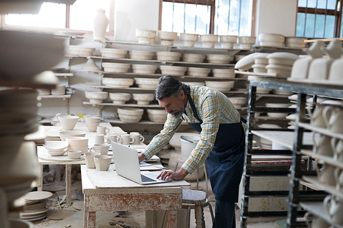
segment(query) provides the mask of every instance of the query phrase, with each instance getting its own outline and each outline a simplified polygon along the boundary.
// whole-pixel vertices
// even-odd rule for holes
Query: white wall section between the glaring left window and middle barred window
[[[158,30],[159,0],[115,0],[115,40],[138,41],[136,29]]]

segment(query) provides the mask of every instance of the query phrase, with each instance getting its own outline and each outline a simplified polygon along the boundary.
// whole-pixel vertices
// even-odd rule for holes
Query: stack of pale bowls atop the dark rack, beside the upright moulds
[[[274,73],[277,77],[290,77],[292,66],[299,56],[294,53],[274,52],[267,55],[267,73]]]

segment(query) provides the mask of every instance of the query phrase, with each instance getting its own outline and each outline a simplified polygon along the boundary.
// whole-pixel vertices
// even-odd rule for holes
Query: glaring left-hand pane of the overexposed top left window
[[[33,27],[64,28],[66,5],[58,3],[43,3],[39,14],[7,14],[7,25]]]

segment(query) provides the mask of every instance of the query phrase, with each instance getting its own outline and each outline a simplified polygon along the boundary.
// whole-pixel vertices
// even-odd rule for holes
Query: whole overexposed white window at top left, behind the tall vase
[[[1,15],[1,27],[15,29],[34,29],[58,31],[58,29],[75,29],[93,31],[93,17],[98,8],[106,10],[110,19],[108,34],[114,31],[114,0],[78,0],[73,5],[62,3],[43,3],[39,14]]]

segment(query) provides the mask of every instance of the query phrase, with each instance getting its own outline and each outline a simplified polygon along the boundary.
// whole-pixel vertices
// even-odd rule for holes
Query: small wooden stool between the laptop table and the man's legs
[[[182,208],[187,209],[187,227],[190,225],[191,209],[194,209],[196,215],[196,228],[204,228],[204,207],[209,206],[212,222],[213,210],[212,206],[206,199],[206,192],[190,189],[182,189]]]

